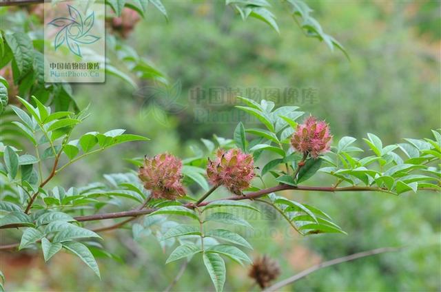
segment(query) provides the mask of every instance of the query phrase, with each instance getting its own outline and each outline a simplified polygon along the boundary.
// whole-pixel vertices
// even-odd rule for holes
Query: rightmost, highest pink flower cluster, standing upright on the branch
[[[332,135],[329,125],[325,121],[317,121],[309,116],[306,121],[297,125],[296,132],[291,138],[291,145],[304,155],[317,158],[320,154],[329,151]]]

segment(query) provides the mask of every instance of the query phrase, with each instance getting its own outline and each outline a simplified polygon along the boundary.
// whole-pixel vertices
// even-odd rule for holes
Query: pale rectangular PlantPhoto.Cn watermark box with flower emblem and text
[[[44,79],[49,83],[105,81],[105,5],[98,1],[44,4]]]

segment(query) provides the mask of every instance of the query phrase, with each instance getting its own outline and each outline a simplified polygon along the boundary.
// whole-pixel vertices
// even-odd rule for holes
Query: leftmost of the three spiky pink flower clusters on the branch
[[[145,158],[143,167],[139,169],[139,178],[145,189],[152,191],[153,198],[175,200],[178,196],[185,196],[181,169],[181,160],[164,153]]]

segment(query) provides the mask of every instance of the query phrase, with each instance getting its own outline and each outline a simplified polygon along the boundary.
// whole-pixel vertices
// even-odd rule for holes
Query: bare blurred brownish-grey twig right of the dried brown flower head
[[[287,286],[291,283],[296,282],[297,280],[300,280],[301,278],[306,277],[310,273],[314,273],[315,271],[319,269],[323,269],[329,266],[333,266],[334,264],[341,264],[342,262],[349,262],[351,260],[356,260],[358,258],[365,258],[370,255],[377,255],[379,253],[388,253],[392,251],[400,251],[403,249],[403,247],[380,247],[379,249],[371,249],[370,251],[362,251],[360,253],[353,253],[351,255],[346,255],[342,258],[336,258],[334,260],[329,260],[327,262],[322,262],[320,264],[316,264],[315,266],[310,267],[309,269],[306,269],[305,271],[301,271],[300,273],[293,275],[292,277],[289,277],[283,281],[280,281],[272,286],[269,286],[264,291],[278,291],[282,287]]]

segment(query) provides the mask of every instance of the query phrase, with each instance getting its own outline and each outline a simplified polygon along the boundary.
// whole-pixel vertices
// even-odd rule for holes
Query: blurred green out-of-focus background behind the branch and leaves
[[[384,143],[400,138],[429,137],[440,123],[440,2],[439,1],[307,1],[325,32],[345,46],[340,51],[309,39],[284,10],[274,3],[280,35],[261,21],[242,21],[223,1],[164,1],[170,20],[150,10],[137,23],[128,43],[152,60],[170,80],[145,83],[134,90],[107,76],[103,85],[75,85],[81,107],[91,104],[92,115],[81,132],[125,128],[152,138],[90,157],[70,167],[57,183],[81,186],[103,180],[103,174],[133,169],[123,158],[168,151],[183,158],[192,145],[212,134],[232,138],[240,117],[229,90],[247,90],[260,98],[300,106],[325,119],[338,140],[367,132]],[[195,98],[200,88],[216,93]],[[284,90],[290,90],[287,100]],[[254,90],[254,91],[253,91]],[[311,94],[306,95],[306,90]],[[312,91],[311,91],[312,90]],[[213,92],[216,92],[214,90]],[[279,95],[265,92],[280,92]],[[297,95],[295,94],[297,92]],[[164,99],[161,99],[161,98]],[[247,96],[257,97],[257,96]],[[285,98],[285,99],[284,99]],[[206,121],[204,116],[216,117]],[[252,125],[253,121],[245,121]],[[359,143],[362,146],[362,143]],[[54,183],[54,185],[57,185]],[[268,179],[268,184],[271,180]],[[309,184],[326,185],[318,176]],[[322,269],[284,291],[440,291],[440,194],[283,193],[326,211],[348,236],[300,238],[286,222],[272,218],[251,220],[247,234],[252,255],[269,254],[280,263],[280,280],[312,264],[377,247],[406,246]],[[222,196],[222,194],[218,194]],[[163,251],[152,237],[134,241],[130,230],[105,233],[105,249],[121,257],[99,260],[99,281],[77,258],[59,254],[47,266],[32,253],[7,255],[1,269],[10,291],[162,291],[180,262],[165,265]],[[32,269],[30,269],[32,268]],[[227,261],[225,291],[247,291],[252,281],[247,268]],[[190,262],[175,291],[212,291],[201,259]],[[252,288],[256,290],[256,287]]]

